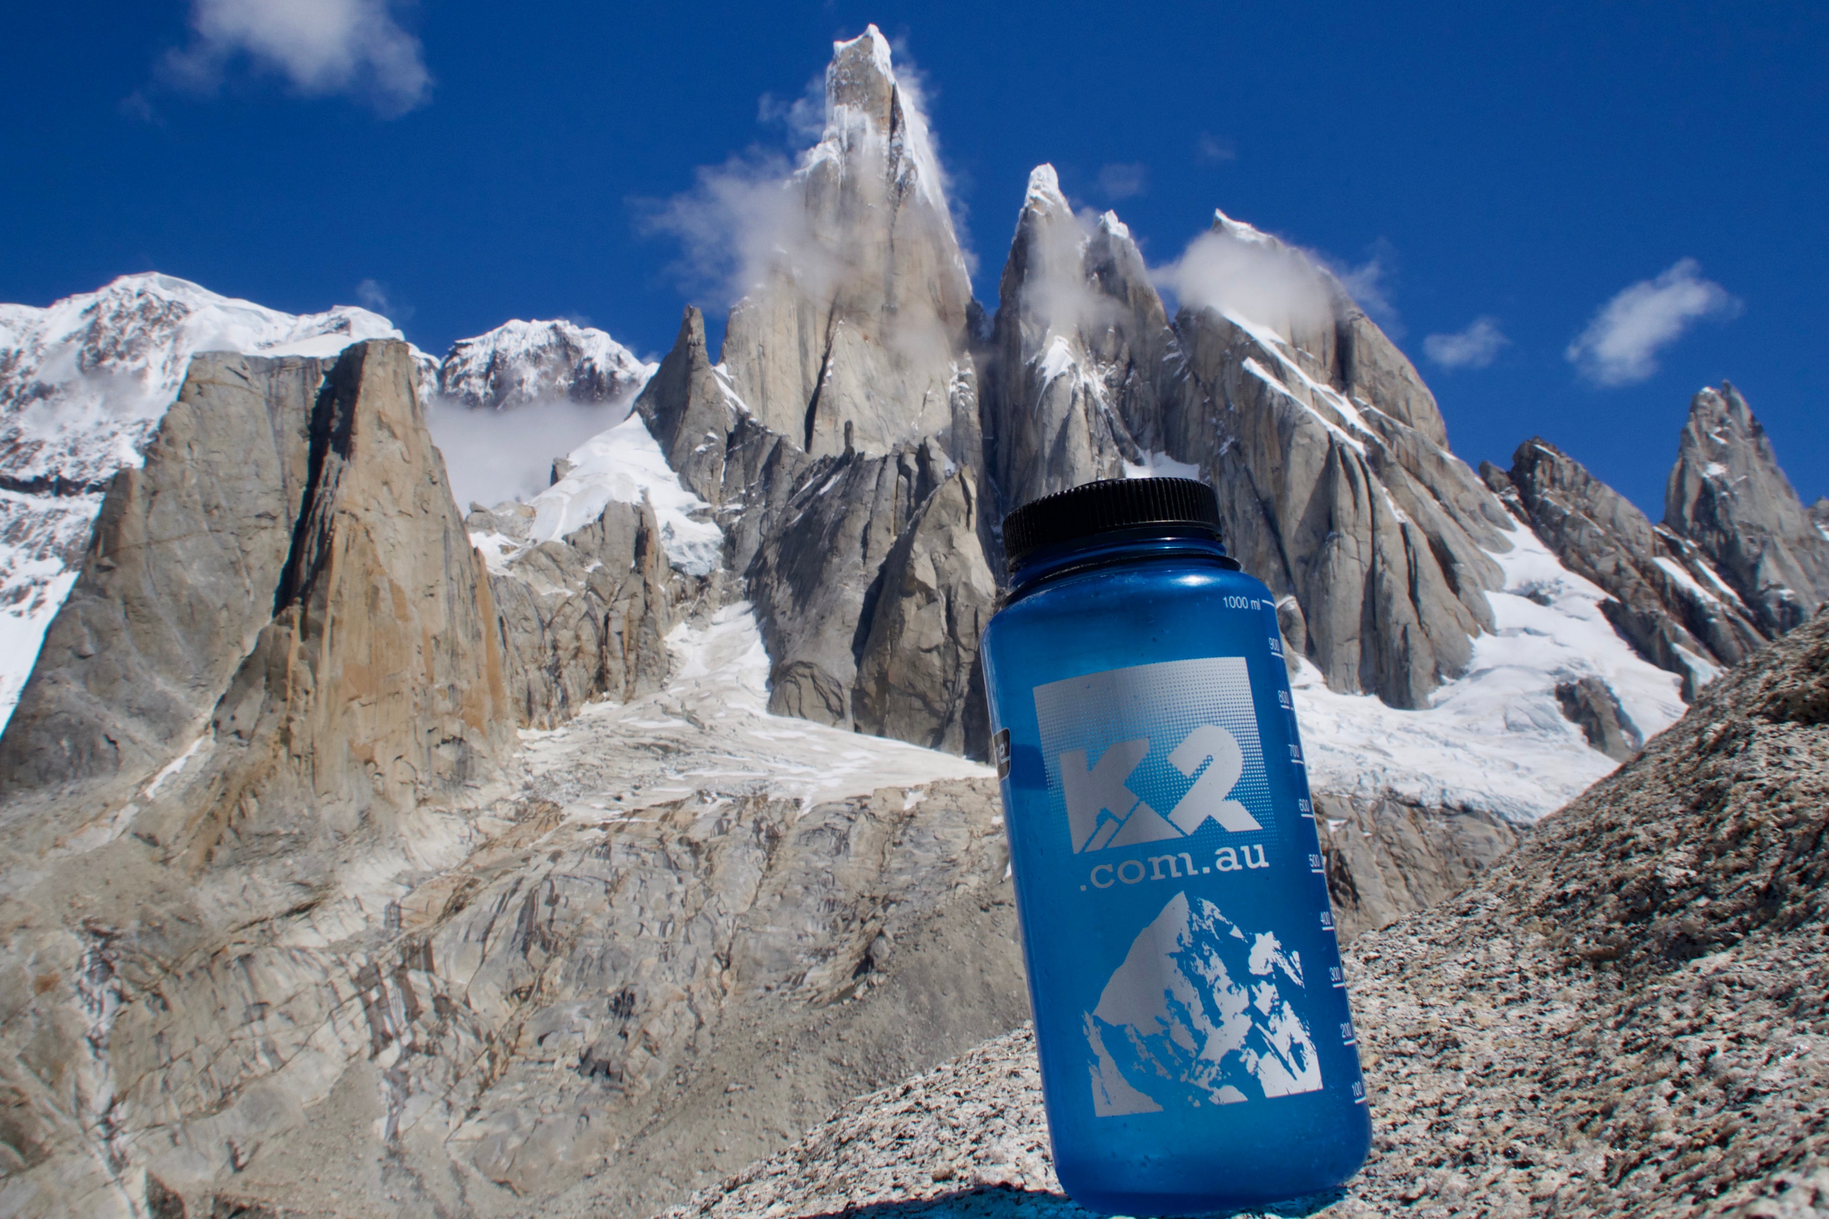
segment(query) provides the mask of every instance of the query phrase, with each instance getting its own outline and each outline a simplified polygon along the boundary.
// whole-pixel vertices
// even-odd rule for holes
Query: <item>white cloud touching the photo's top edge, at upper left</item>
[[[393,0],[190,0],[192,42],[165,57],[166,79],[212,91],[245,55],[307,97],[348,93],[382,117],[424,104],[432,88],[419,38]]]

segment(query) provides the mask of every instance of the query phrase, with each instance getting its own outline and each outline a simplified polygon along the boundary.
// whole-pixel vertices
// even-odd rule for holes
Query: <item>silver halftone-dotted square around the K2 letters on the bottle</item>
[[[1262,832],[1222,832],[1224,844],[1260,843],[1277,835],[1257,707],[1251,700],[1251,673],[1244,656],[1167,660],[1037,685],[1035,718],[1048,773],[1048,808],[1063,837],[1070,837],[1066,795],[1061,788],[1064,751],[1085,749],[1090,768],[1097,766],[1110,746],[1147,737],[1149,755],[1125,786],[1167,815],[1194,786],[1194,779],[1169,764],[1169,753],[1202,724],[1224,727],[1238,742],[1244,773],[1233,786],[1231,799],[1251,810],[1264,826]],[[1200,833],[1213,832],[1214,824],[1209,821]]]

